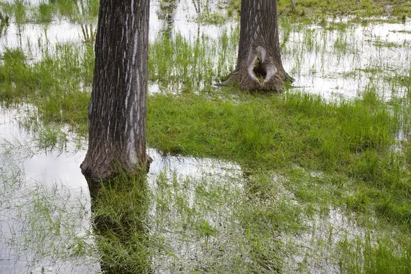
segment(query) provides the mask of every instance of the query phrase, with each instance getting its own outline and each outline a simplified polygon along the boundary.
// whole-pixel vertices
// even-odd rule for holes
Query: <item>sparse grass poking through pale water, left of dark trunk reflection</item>
[[[2,271],[96,271],[86,192],[29,178],[21,162],[34,155],[32,147],[4,141],[0,146],[0,243],[7,261]]]

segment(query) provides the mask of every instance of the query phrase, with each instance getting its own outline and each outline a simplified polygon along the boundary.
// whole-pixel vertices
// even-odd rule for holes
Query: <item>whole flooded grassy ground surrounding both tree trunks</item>
[[[98,6],[0,5],[0,273],[100,273],[110,256],[142,273],[410,273],[409,18],[280,16],[295,82],[254,96],[215,86],[236,66],[229,3],[152,1],[147,189],[92,210]],[[109,245],[99,218],[132,214],[116,206],[140,232]]]

